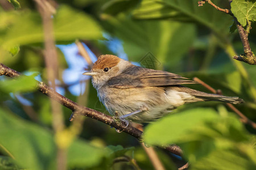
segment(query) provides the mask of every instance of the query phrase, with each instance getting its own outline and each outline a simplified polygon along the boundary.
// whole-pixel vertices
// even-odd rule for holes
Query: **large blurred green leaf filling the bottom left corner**
[[[49,131],[0,109],[0,144],[20,167],[55,169],[56,147]]]

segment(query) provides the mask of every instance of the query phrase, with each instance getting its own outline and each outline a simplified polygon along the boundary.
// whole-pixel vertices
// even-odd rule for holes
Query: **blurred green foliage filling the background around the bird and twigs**
[[[213,2],[230,8],[228,1]],[[256,67],[232,59],[234,50],[242,53],[243,46],[236,30],[229,32],[231,16],[208,3],[199,7],[197,1],[191,0],[56,3],[56,14],[52,16],[56,44],[79,39],[97,55],[124,52],[130,61],[145,67],[188,78],[197,76],[224,95],[244,99],[246,103],[236,108],[256,121]],[[47,82],[41,16],[35,2],[6,0],[0,4],[0,62],[27,75],[17,79],[0,77],[0,169],[56,169],[58,141],[52,130],[51,103],[35,90],[34,80]],[[253,1],[233,0],[231,10],[243,26],[255,21]],[[251,27],[249,41],[255,49],[256,24]],[[60,76],[56,84],[62,94],[108,114],[91,84],[86,84],[90,87],[84,95],[72,94],[71,87],[84,86],[80,83],[84,81],[84,68],[79,68],[80,73],[71,67],[66,53],[59,49],[57,52]],[[150,63],[145,62],[148,59]],[[64,76],[67,69],[72,70],[70,77]],[[76,82],[64,83],[64,79],[73,77],[77,77]],[[207,92],[198,84],[187,87]],[[133,159],[141,169],[154,168],[134,137],[116,133],[96,120],[85,118],[79,137],[74,137],[69,132],[71,111],[62,109],[67,128],[58,139],[68,147],[68,169],[136,169],[130,161]],[[155,148],[166,169],[177,169],[187,161],[191,169],[256,168],[256,131],[242,124],[224,104],[187,104],[145,126],[146,146],[176,143],[184,151],[180,160]],[[117,162],[122,158],[129,161]]]

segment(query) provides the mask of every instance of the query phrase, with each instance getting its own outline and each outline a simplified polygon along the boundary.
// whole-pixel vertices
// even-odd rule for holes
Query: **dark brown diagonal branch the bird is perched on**
[[[11,78],[16,78],[21,74],[18,71],[10,69],[9,67],[0,63],[0,75],[6,75]],[[37,89],[38,91],[42,92],[44,95],[52,97],[54,100],[58,101],[64,107],[71,109],[71,111],[77,111],[79,115],[94,118],[95,120],[98,120],[103,122],[104,124],[110,125],[115,129],[118,129],[118,130],[124,131],[127,134],[130,134],[133,137],[139,139],[140,141],[142,140],[142,131],[137,128],[134,128],[130,124],[127,127],[126,127],[126,123],[123,121],[121,121],[121,124],[117,124],[117,122],[114,121],[113,117],[108,116],[104,113],[98,112],[96,110],[83,107],[75,103],[74,101],[69,100],[67,97],[64,97],[63,95],[60,95],[57,92],[53,91],[51,88],[46,86],[46,84],[43,82],[38,82]],[[172,152],[175,155],[179,155],[179,156],[182,155],[182,150],[179,146],[175,146],[175,145],[163,146],[162,148]]]

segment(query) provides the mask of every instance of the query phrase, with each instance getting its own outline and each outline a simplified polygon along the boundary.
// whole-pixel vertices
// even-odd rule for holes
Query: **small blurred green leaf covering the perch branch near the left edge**
[[[38,82],[34,79],[36,74],[30,76],[22,75],[17,79],[9,79],[0,82],[0,89],[3,92],[30,92],[36,90]]]

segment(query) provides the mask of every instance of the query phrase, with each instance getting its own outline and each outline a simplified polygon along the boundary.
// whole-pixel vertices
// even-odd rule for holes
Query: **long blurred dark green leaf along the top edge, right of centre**
[[[214,3],[218,5],[218,2],[221,1]],[[211,29],[219,37],[228,33],[227,27],[232,24],[232,17],[224,12],[217,11],[207,3],[199,7],[196,1],[191,0],[143,0],[134,10],[133,16],[137,19],[170,18],[181,22],[197,22]]]

